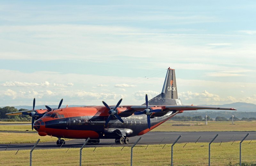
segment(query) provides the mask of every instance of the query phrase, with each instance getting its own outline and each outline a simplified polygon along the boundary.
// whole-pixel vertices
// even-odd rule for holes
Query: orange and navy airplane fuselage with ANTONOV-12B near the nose
[[[45,114],[34,123],[34,128],[41,136],[58,138],[109,139],[117,138],[118,135],[133,137],[147,133],[177,113],[166,111],[160,117],[151,118],[151,128],[148,129],[146,115],[122,117],[124,123],[113,118],[104,126],[109,116],[108,109],[104,106],[62,108]]]

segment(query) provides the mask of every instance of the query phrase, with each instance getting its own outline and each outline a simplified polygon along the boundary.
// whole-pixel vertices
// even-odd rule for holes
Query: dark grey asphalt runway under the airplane
[[[129,144],[115,144],[114,139],[100,139],[100,144],[88,144],[85,147],[100,147],[100,146],[132,146],[139,137],[142,137],[137,145],[153,145],[153,144],[172,144],[180,135],[177,143],[188,142],[206,142],[207,144],[218,134],[214,142],[241,141],[247,133],[250,133],[245,140],[255,140],[256,131],[215,131],[215,132],[148,132],[142,136],[130,138]],[[56,138],[57,141],[57,138]],[[52,148],[80,148],[85,139],[73,139],[66,141],[65,145],[57,146],[54,142],[38,143],[36,149],[52,149]],[[18,150],[31,149],[35,143],[24,144],[0,144],[0,150]],[[7,148],[8,146],[8,148]]]

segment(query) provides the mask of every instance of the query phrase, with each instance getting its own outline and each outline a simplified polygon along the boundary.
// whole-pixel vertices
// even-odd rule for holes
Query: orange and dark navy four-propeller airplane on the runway
[[[40,136],[57,137],[57,145],[65,144],[61,138],[91,138],[91,143],[99,143],[100,139],[115,139],[118,144],[128,144],[129,138],[143,135],[166,122],[174,115],[186,110],[236,110],[234,108],[202,107],[182,105],[178,99],[175,71],[170,67],[164,81],[162,93],[143,105],[120,106],[122,99],[115,106],[59,107],[52,109],[33,109],[7,113],[6,115],[29,115],[33,128]],[[34,123],[34,121],[36,122]]]

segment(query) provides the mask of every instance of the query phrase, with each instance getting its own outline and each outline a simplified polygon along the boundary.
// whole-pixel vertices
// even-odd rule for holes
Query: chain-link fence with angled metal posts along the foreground
[[[86,145],[87,142],[85,142],[84,145],[79,144],[80,148],[76,145],[70,145],[69,147],[66,145],[54,149],[51,147],[42,148],[42,146],[36,148],[35,146],[35,149],[32,150],[8,150],[6,148],[0,151],[0,164],[11,166],[254,166],[256,165],[255,136],[250,134],[247,137],[245,135],[180,136],[178,138],[158,138],[157,140],[156,138],[133,138],[130,139],[132,143],[123,145],[116,145],[114,143]],[[242,141],[243,139],[244,141]]]

